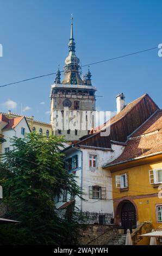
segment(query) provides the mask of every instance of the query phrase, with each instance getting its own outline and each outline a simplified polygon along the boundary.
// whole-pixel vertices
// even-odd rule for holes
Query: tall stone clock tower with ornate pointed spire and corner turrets
[[[67,141],[77,141],[88,135],[91,127],[95,126],[96,87],[91,84],[89,69],[84,78],[80,77],[73,38],[73,17],[68,51],[63,81],[58,69],[51,86],[51,124],[54,135],[63,135]]]

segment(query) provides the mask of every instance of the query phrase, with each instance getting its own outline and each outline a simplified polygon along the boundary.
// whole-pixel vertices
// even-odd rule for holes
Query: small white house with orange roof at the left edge
[[[1,144],[1,154],[13,149],[10,139],[23,138],[26,133],[30,133],[30,128],[25,117],[7,118],[0,114],[0,135],[4,142]]]

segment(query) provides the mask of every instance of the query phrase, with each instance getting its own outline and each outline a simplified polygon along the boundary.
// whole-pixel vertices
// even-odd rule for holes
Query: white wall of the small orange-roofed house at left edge
[[[10,130],[3,130],[4,139],[6,142],[2,143],[2,154],[5,153],[5,148],[10,148],[10,150],[13,150],[13,147],[11,146],[10,138],[13,138],[16,136],[17,138],[23,138],[24,136],[21,134],[21,127],[25,128],[26,133],[30,133],[29,127],[27,125],[26,120],[23,118],[20,123],[15,127],[15,129]]]

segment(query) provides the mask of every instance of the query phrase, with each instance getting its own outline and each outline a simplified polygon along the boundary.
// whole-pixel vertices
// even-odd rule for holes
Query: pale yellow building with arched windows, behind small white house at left
[[[17,118],[17,117],[22,116],[19,114],[12,113],[11,111],[9,111],[7,114],[4,113],[4,115],[7,118]],[[52,130],[51,124],[34,120],[33,116],[26,117],[26,120],[28,122],[28,125],[29,125],[31,131],[36,131],[38,133],[41,133],[42,135],[47,135],[47,136],[53,135],[53,130]]]

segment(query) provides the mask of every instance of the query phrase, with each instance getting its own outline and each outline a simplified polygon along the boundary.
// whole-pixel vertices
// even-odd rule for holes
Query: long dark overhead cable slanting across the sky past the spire
[[[138,51],[138,52],[128,53],[128,54],[124,54],[122,56],[100,60],[99,62],[93,62],[93,63],[90,63],[90,64],[82,65],[82,68],[84,68],[85,66],[91,66],[91,65],[95,65],[95,64],[99,64],[99,63],[103,63],[103,62],[109,62],[110,60],[121,59],[121,58],[124,58],[124,57],[128,57],[128,56],[132,56],[132,55],[135,55],[135,54],[139,54],[139,53],[142,53],[142,52],[152,51],[152,50],[155,50],[157,48],[158,47],[156,46],[156,47],[148,48],[148,49],[141,50],[141,51]],[[64,70],[61,70],[60,72],[64,72]],[[34,80],[34,79],[41,78],[41,77],[52,76],[52,75],[55,75],[55,74],[57,74],[57,72],[52,72],[52,73],[46,74],[46,75],[35,76],[35,77],[27,78],[27,79],[24,79],[24,80],[3,84],[2,86],[0,86],[0,88],[6,87],[6,86],[11,86],[11,85],[22,83],[22,82],[27,82],[27,81]]]

